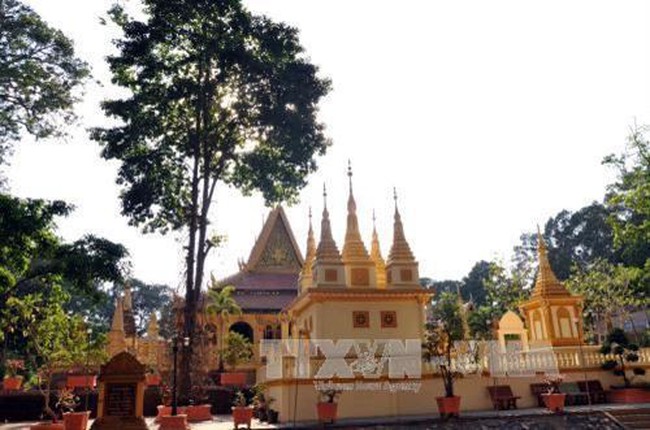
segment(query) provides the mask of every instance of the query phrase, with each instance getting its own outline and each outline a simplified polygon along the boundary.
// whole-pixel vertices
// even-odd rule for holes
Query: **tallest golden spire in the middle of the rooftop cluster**
[[[348,219],[345,230],[342,260],[348,287],[370,287],[377,285],[377,269],[370,259],[366,246],[361,240],[359,220],[357,218],[357,203],[352,192],[352,166],[348,160],[348,181],[350,193],[348,196]]]

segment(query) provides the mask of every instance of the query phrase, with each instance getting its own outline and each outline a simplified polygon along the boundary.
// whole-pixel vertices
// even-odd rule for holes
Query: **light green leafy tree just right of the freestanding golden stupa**
[[[584,319],[587,331],[604,336],[612,330],[613,319],[629,317],[629,310],[647,305],[647,298],[636,291],[641,270],[596,260],[584,270],[576,268],[566,282],[567,288],[584,297]]]

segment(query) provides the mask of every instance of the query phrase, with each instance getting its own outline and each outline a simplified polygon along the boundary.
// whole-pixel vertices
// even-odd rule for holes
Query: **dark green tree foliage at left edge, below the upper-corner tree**
[[[65,306],[72,296],[97,297],[98,282],[120,281],[126,249],[86,236],[73,243],[55,234],[55,218],[70,212],[63,202],[0,194],[0,339],[25,351],[30,324],[42,309]]]

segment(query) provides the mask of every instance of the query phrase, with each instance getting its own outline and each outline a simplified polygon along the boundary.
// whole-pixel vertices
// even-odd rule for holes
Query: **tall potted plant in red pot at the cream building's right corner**
[[[432,319],[426,324],[423,358],[437,367],[445,389],[443,397],[436,397],[438,411],[443,419],[460,414],[460,396],[454,395],[454,380],[461,376],[453,367],[456,342],[463,339],[463,320],[457,297],[443,293],[432,309]]]

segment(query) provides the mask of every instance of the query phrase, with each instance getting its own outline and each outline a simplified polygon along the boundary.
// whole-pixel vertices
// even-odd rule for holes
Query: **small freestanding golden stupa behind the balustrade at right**
[[[571,295],[548,261],[546,243],[537,227],[539,267],[528,301],[520,305],[531,346],[570,346],[582,342],[582,296]]]

